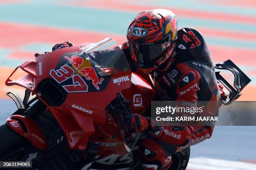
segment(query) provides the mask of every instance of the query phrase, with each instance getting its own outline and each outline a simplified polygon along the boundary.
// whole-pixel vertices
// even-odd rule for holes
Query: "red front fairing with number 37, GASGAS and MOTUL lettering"
[[[131,86],[131,70],[123,51],[118,47],[108,58],[98,60],[89,56],[89,51],[84,52],[94,45],[81,44],[38,55],[35,62],[24,62],[15,69],[24,70],[26,76],[11,80],[12,74],[5,82],[25,87],[44,102],[74,150],[86,148],[94,125],[106,121],[105,107],[118,92]],[[98,49],[102,46],[96,45]]]

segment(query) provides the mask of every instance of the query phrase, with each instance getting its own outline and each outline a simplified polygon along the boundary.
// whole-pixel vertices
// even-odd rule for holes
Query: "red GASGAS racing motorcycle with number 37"
[[[113,42],[106,38],[36,54],[35,61],[14,70],[26,75],[12,80],[12,73],[6,85],[26,91],[23,100],[7,93],[18,110],[0,126],[0,161],[31,161],[38,170],[141,169],[138,145],[146,133],[127,133],[124,117],[143,114],[154,88],[131,71],[120,47],[93,55]],[[230,104],[250,79],[230,60],[215,67],[235,75],[234,88],[216,72],[229,90],[222,101]],[[189,154],[189,148],[173,154],[170,170],[186,169]]]

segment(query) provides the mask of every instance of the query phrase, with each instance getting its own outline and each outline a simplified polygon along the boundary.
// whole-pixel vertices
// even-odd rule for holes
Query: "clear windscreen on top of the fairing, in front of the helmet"
[[[102,41],[84,51],[85,58],[90,61],[97,73],[105,76],[130,70],[123,50],[118,46],[109,48],[115,44],[113,43],[115,41],[112,39],[105,43]]]

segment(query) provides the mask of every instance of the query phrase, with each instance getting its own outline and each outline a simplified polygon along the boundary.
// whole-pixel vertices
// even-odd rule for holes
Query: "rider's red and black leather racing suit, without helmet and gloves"
[[[219,100],[218,83],[205,39],[200,32],[190,28],[179,30],[177,36],[175,56],[169,59],[164,66],[154,70],[149,75],[150,78],[133,63],[126,43],[122,48],[133,71],[154,85],[156,100]],[[142,157],[145,158],[145,164],[161,165],[162,168],[168,169],[171,165],[168,158],[170,153],[210,138],[214,127],[162,126],[161,129],[161,135],[148,135],[139,149]],[[154,170],[151,166],[148,166],[148,169]]]

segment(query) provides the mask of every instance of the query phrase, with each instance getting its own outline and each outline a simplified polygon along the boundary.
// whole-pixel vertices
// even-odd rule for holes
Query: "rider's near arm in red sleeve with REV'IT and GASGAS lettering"
[[[197,92],[200,90],[200,73],[185,63],[177,65],[182,72],[176,83],[177,101],[197,102]],[[210,94],[209,94],[210,95]],[[176,146],[190,146],[210,138],[214,127],[207,126],[162,126],[163,133],[159,137],[164,143]]]

